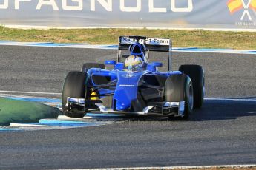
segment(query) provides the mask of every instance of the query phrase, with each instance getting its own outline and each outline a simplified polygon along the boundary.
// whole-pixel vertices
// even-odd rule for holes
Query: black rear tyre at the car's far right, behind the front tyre
[[[194,108],[203,106],[203,98],[205,91],[205,75],[203,67],[198,65],[181,65],[180,72],[184,72],[191,78],[194,90]]]

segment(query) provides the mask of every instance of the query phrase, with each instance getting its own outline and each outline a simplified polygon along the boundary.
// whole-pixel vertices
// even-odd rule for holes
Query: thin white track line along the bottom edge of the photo
[[[91,169],[91,170],[132,170],[132,169],[239,169],[239,168],[252,168],[256,167],[255,164],[252,165],[223,165],[223,166],[166,166],[166,167],[134,167],[134,168],[114,168],[114,169]],[[76,169],[79,170],[79,169]]]

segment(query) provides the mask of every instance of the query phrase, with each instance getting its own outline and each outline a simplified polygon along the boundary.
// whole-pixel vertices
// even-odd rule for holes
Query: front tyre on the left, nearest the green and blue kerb
[[[65,78],[62,89],[62,111],[71,118],[82,118],[85,113],[70,111],[68,112],[67,98],[85,98],[85,78],[84,72],[69,72]]]

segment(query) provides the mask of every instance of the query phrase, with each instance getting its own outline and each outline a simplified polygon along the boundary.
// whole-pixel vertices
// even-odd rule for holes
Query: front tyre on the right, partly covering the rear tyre
[[[187,120],[194,108],[193,84],[191,79],[185,75],[171,75],[165,82],[165,102],[184,101],[183,120]]]

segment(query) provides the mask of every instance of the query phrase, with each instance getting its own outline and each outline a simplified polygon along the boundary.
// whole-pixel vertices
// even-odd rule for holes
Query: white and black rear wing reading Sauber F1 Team
[[[120,61],[120,55],[122,50],[129,50],[131,44],[139,42],[144,44],[146,50],[155,52],[168,52],[168,71],[171,71],[171,51],[172,42],[168,38],[147,38],[142,36],[120,36],[118,46],[117,61]]]

